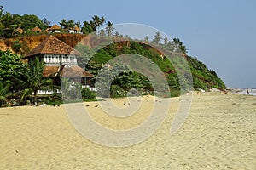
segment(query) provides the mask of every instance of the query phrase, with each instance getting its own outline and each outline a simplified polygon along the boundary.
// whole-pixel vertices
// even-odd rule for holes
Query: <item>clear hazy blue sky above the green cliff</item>
[[[5,11],[36,14],[52,24],[61,19],[104,16],[119,23],[153,26],[178,37],[231,88],[256,87],[256,1],[172,0],[0,0]]]

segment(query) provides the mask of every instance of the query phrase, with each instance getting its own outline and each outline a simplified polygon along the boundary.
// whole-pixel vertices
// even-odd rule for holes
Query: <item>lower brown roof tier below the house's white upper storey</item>
[[[43,71],[44,77],[93,77],[88,71],[84,71],[79,66],[66,67],[61,66],[45,66]]]

